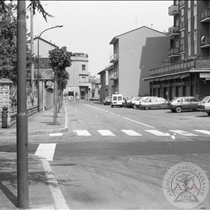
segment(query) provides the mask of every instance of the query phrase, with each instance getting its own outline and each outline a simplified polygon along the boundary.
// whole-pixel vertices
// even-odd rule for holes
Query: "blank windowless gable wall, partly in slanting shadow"
[[[153,37],[150,45],[148,38]],[[163,37],[164,47],[157,45]],[[163,44],[163,42],[162,42]],[[156,48],[158,46],[158,48]],[[155,30],[142,27],[138,30],[119,36],[119,93],[126,96],[138,96],[149,93],[149,83],[140,85],[143,72],[148,72],[150,68],[160,66],[160,63],[168,58],[169,38]],[[165,52],[166,51],[166,52]],[[150,55],[151,53],[151,55]],[[156,56],[164,54],[164,59],[156,61]],[[166,56],[167,55],[167,56]],[[158,64],[158,65],[157,65]],[[149,72],[148,72],[149,74]]]

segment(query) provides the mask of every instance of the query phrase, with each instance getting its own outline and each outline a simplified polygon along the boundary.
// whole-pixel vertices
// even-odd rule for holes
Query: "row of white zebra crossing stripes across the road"
[[[71,131],[70,131],[71,132]],[[93,136],[96,135],[96,133],[93,134],[93,131],[88,130],[73,130],[72,131],[76,136]],[[141,132],[137,132],[134,130],[119,130],[118,132],[114,133],[110,130],[96,130],[98,135],[104,136],[104,137],[116,137],[119,136],[119,133],[122,133],[126,136],[130,137],[142,137],[145,135],[152,134],[156,137],[172,137],[172,139],[175,139],[175,136],[184,136],[184,137],[196,137],[196,136],[210,136],[210,131],[208,130],[192,130],[192,131],[184,131],[184,130],[168,130],[167,132],[159,131],[159,130],[143,130]],[[63,133],[54,133],[50,134],[50,136],[62,136]],[[121,134],[120,134],[121,135]]]

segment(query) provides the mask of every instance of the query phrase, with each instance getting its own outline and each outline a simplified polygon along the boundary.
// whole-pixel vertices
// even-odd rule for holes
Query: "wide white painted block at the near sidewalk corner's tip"
[[[55,153],[55,147],[56,147],[56,143],[39,144],[35,152],[35,155],[42,156],[46,158],[48,161],[52,161],[54,153]]]

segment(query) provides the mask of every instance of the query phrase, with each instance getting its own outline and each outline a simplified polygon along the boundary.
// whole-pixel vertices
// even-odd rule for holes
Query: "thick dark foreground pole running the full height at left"
[[[18,208],[29,208],[28,119],[26,106],[26,2],[17,9],[17,198]]]

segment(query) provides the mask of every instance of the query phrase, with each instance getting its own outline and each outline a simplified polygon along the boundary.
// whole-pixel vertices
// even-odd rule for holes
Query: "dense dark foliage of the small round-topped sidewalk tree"
[[[66,47],[56,48],[49,51],[50,66],[58,75],[58,89],[66,88],[69,74],[66,67],[71,66],[71,52],[68,52]]]

